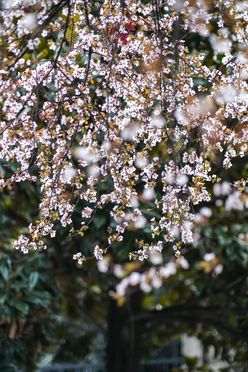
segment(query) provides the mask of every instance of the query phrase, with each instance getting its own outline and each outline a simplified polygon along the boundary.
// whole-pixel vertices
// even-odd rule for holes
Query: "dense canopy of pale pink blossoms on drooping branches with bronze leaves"
[[[207,51],[190,47],[197,35]],[[232,193],[227,209],[246,203],[240,191],[248,181],[223,183],[211,160],[223,152],[225,174],[247,151],[247,3],[5,0],[0,37],[0,158],[11,171],[1,173],[1,189],[28,180],[43,195],[39,221],[14,247],[46,248],[55,220],[83,236],[106,209],[115,228],[105,246],[92,247],[96,259],[150,219],[151,239],[136,241],[130,259],[150,253],[159,265],[171,245],[187,268],[182,252],[193,242],[194,206],[211,199],[206,184],[216,195]],[[76,230],[73,212],[82,202]],[[154,210],[159,217],[149,218]],[[208,213],[204,206],[202,218]],[[80,252],[73,258],[85,260]],[[214,256],[205,259],[220,272]],[[175,270],[168,262],[132,273],[119,290],[137,283],[149,290],[147,276],[159,286],[156,272]]]

